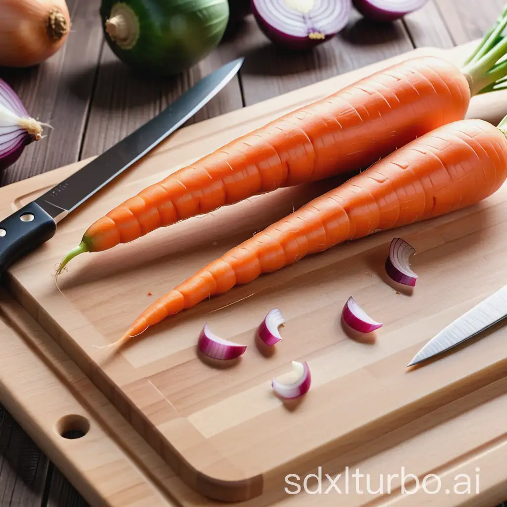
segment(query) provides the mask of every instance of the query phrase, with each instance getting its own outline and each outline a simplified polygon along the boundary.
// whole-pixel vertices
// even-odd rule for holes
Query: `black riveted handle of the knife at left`
[[[0,277],[21,257],[51,239],[55,232],[56,222],[36,202],[30,202],[0,222]]]

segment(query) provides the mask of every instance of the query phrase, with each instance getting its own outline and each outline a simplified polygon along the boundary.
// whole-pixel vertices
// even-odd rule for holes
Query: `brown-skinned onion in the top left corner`
[[[70,32],[65,0],[0,0],[0,65],[31,67],[53,56]]]

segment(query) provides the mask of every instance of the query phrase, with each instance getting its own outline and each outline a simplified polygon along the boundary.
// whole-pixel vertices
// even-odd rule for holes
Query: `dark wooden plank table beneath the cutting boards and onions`
[[[429,0],[421,11],[388,25],[368,23],[354,12],[333,40],[313,52],[294,54],[273,47],[249,17],[231,26],[220,47],[188,73],[157,82],[132,75],[104,44],[100,0],[67,0],[73,28],[64,48],[39,67],[0,68],[0,77],[14,87],[28,112],[54,127],[0,174],[0,185],[102,153],[202,76],[238,56],[246,57],[239,76],[189,123],[415,47],[448,48],[477,39],[503,2]],[[36,505],[87,504],[10,414],[0,410],[0,506]]]

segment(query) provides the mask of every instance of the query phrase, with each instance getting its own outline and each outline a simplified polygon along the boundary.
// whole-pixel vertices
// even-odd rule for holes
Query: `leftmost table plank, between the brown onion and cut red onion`
[[[37,67],[0,72],[28,113],[53,126],[45,129],[46,138],[27,147],[16,164],[0,175],[1,184],[78,160],[102,44],[99,5],[100,0],[69,0],[73,26],[62,49]]]

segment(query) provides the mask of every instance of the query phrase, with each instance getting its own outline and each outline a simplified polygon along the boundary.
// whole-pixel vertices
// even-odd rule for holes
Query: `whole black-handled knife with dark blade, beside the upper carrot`
[[[158,116],[44,195],[0,222],[0,277],[14,262],[56,233],[69,213],[112,182],[199,111],[237,74],[243,58],[215,70]]]

